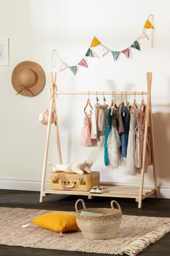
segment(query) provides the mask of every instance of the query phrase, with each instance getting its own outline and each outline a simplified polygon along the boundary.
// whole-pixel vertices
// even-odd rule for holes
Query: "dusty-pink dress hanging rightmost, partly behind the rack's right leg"
[[[146,106],[140,106],[138,111],[138,123],[136,127],[136,142],[135,142],[135,166],[142,168],[143,163],[143,140],[145,132],[145,120],[146,120]],[[148,127],[148,137],[146,145],[146,167],[152,164],[151,159],[151,137],[150,129]],[[146,168],[147,169],[147,168]],[[140,172],[140,170],[138,170]]]

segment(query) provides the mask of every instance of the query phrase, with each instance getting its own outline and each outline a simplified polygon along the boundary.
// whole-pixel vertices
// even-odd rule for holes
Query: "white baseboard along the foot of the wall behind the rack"
[[[110,182],[103,182],[102,184],[110,184]],[[14,189],[14,190],[28,190],[28,191],[40,191],[40,180],[24,180],[24,179],[0,179],[0,189]],[[115,186],[128,186],[128,187],[138,187],[137,184],[125,184],[120,182],[115,182]],[[48,182],[45,182],[45,186],[48,187]],[[152,187],[151,185],[146,185],[147,187]],[[170,198],[170,186],[160,186],[158,187],[158,195],[160,198]]]

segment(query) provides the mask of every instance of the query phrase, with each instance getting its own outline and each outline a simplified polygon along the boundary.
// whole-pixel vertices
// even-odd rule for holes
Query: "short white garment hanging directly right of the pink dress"
[[[100,104],[94,105],[94,110],[92,111],[91,115],[91,139],[99,139],[100,132],[98,130],[98,116],[100,110]]]

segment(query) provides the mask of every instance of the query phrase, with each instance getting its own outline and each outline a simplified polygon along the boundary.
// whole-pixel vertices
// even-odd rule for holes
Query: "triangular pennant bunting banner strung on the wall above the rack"
[[[131,49],[135,49],[140,51],[140,40],[147,39],[151,40],[151,47],[155,47],[155,25],[153,23],[153,14],[150,14],[148,16],[148,19],[146,20],[145,24],[143,25],[142,33],[134,40],[134,42],[128,46],[127,48],[121,50],[121,51],[115,51],[107,46],[104,46],[101,41],[94,36],[94,38],[91,41],[91,45],[89,46],[88,50],[86,51],[86,54],[84,57],[79,61],[76,65],[69,65],[66,64],[65,61],[59,56],[58,51],[56,49],[52,50],[51,55],[51,62],[53,68],[58,68],[59,72],[63,72],[66,69],[70,69],[70,71],[73,73],[73,75],[76,75],[80,67],[86,67],[89,68],[88,59],[89,58],[102,58],[106,56],[107,54],[111,54],[114,61],[117,61],[120,59],[121,55],[124,55],[127,59],[131,58],[132,51]],[[58,60],[58,64],[56,64]]]

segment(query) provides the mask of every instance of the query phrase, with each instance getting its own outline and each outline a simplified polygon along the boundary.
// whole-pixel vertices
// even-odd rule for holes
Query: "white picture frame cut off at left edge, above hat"
[[[9,38],[0,38],[0,66],[9,66]]]

